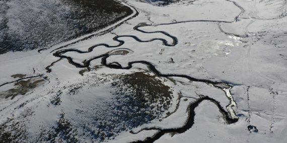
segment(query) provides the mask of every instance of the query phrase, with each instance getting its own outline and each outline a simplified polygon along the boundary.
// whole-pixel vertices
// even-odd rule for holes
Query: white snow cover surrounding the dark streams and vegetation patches
[[[242,11],[233,2],[244,9],[239,21],[236,21],[235,17]],[[10,126],[5,128],[5,131],[13,133],[15,128],[11,124],[20,122],[20,129],[25,130],[26,134],[23,134],[27,139],[23,134],[20,136],[23,137],[22,140],[17,139],[35,142],[37,138],[48,138],[49,133],[53,133],[61,120],[69,122],[69,133],[71,136],[74,133],[73,137],[79,142],[144,140],[158,132],[145,128],[168,129],[183,126],[189,116],[188,106],[204,95],[219,101],[226,112],[230,112],[234,118],[238,117],[238,121],[228,124],[218,106],[204,100],[195,108],[194,124],[191,128],[180,134],[166,133],[155,142],[287,140],[286,1],[199,0],[192,3],[180,1],[165,7],[134,0],[121,3],[130,7],[134,14],[137,11],[138,16],[121,20],[117,24],[123,24],[107,34],[76,42],[96,33],[89,34],[59,43],[39,53],[32,50],[0,55],[0,85],[5,84],[0,86],[0,93],[15,88],[16,82],[13,81],[20,79],[11,77],[15,74],[39,76],[45,80],[25,95],[18,95],[13,99],[0,94],[0,123]],[[127,54],[111,54],[107,58],[107,64],[117,62],[122,67],[128,67],[131,61],[147,61],[161,74],[180,74],[224,82],[232,86],[231,89],[225,88],[224,91],[181,77],[156,77],[173,90],[171,106],[161,113],[159,118],[136,127],[125,127],[126,122],[117,122],[117,118],[109,112],[112,111],[114,98],[114,89],[110,85],[120,75],[134,72],[154,75],[146,65],[133,64],[129,70],[111,69],[103,66],[101,59],[96,59],[90,63],[89,71],[87,68],[71,65],[67,59],[59,60],[53,56],[53,53],[65,49],[88,51],[91,46],[101,43],[116,46],[119,43],[113,38],[123,35],[136,36],[142,41],[161,38],[168,44],[173,44],[173,39],[163,33],[142,33],[134,29],[143,23],[148,26],[139,27],[139,30],[164,31],[176,37],[178,44],[165,46],[160,40],[138,42],[131,37],[120,37],[118,39],[125,43],[119,47],[98,46],[89,53],[70,51],[63,56],[71,57],[75,63],[83,65],[85,60],[95,56],[116,49],[128,49]],[[17,25],[11,25],[11,28],[13,27],[17,29]],[[61,46],[65,47],[57,49]],[[53,62],[55,63],[50,66],[51,72],[47,72],[46,67]],[[79,74],[81,70],[86,70],[83,75]],[[6,84],[8,82],[11,83]],[[233,110],[234,112],[231,112]],[[167,116],[168,112],[173,111],[175,112]],[[93,130],[99,130],[93,120],[95,117],[100,118],[97,123],[102,119],[113,124],[119,131],[114,131],[115,134],[104,139],[93,137]],[[41,133],[44,134],[41,136]],[[63,140],[57,136],[55,141]]]

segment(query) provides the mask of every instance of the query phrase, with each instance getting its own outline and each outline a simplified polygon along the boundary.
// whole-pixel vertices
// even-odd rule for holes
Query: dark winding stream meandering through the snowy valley
[[[240,7],[236,2],[229,1],[229,0],[226,0],[226,1],[233,3],[236,7],[238,7],[241,10],[241,13],[234,18],[233,22],[196,20],[196,21],[182,21],[182,22],[175,22],[175,23],[167,23],[167,24],[160,24],[160,25],[173,25],[173,24],[187,23],[187,22],[216,22],[216,23],[219,23],[219,28],[220,28],[220,23],[235,23],[235,22],[238,22],[239,21],[239,17],[242,16],[242,14],[245,12],[244,9],[242,7]],[[136,11],[136,15],[137,14],[138,14],[138,12]],[[192,127],[192,125],[194,123],[194,115],[195,115],[194,109],[203,100],[209,100],[209,101],[213,102],[214,104],[216,104],[218,106],[219,110],[221,111],[221,113],[224,115],[225,120],[227,121],[227,123],[234,123],[234,122],[238,121],[238,116],[236,116],[234,110],[232,109],[233,106],[236,106],[236,103],[233,100],[233,97],[232,97],[232,95],[230,93],[230,89],[232,88],[232,86],[230,86],[230,85],[228,85],[228,84],[226,84],[224,82],[216,82],[216,81],[211,81],[211,80],[207,80],[207,79],[197,79],[197,78],[194,78],[194,77],[191,77],[191,76],[187,76],[187,75],[184,75],[184,74],[173,74],[173,73],[162,74],[156,69],[156,67],[155,67],[155,65],[153,63],[150,63],[150,62],[147,62],[147,61],[131,61],[131,62],[128,62],[128,64],[127,64],[128,66],[126,66],[126,67],[122,67],[117,62],[107,63],[107,58],[112,55],[111,51],[107,52],[105,54],[99,55],[99,56],[95,56],[95,57],[93,57],[93,58],[91,58],[89,60],[85,60],[85,61],[83,61],[83,64],[76,63],[76,62],[74,62],[73,58],[63,55],[66,52],[77,52],[77,53],[80,53],[80,54],[82,54],[82,53],[89,53],[89,52],[92,52],[98,46],[105,46],[106,48],[117,48],[117,47],[120,47],[121,45],[124,44],[123,40],[119,40],[119,38],[121,38],[121,37],[130,37],[130,38],[133,38],[134,40],[136,40],[137,42],[152,42],[152,41],[155,41],[155,40],[160,40],[160,41],[162,41],[163,45],[168,46],[168,47],[172,47],[172,46],[175,46],[175,45],[178,44],[178,40],[177,40],[176,37],[164,32],[164,31],[146,32],[146,31],[143,31],[143,30],[139,29],[140,27],[145,27],[145,26],[151,26],[151,25],[147,25],[147,24],[142,24],[141,23],[141,24],[138,24],[137,26],[135,26],[134,30],[139,31],[141,33],[147,33],[147,34],[161,33],[161,34],[164,34],[164,35],[170,37],[171,39],[173,39],[173,42],[171,44],[169,44],[167,42],[167,40],[162,39],[162,38],[154,38],[154,39],[151,39],[151,40],[143,41],[143,40],[140,40],[138,37],[133,36],[133,35],[121,35],[121,36],[115,36],[113,38],[114,41],[117,41],[119,43],[116,46],[110,46],[108,44],[102,43],[102,44],[97,44],[97,45],[91,46],[88,49],[88,51],[81,51],[81,50],[77,50],[77,49],[63,49],[63,50],[60,50],[61,48],[64,48],[64,47],[68,46],[68,45],[66,45],[66,46],[62,46],[62,47],[59,47],[59,48],[53,50],[52,52],[58,50],[58,51],[53,53],[53,56],[58,57],[59,60],[67,59],[70,64],[72,64],[72,65],[74,65],[74,66],[76,66],[78,68],[88,68],[88,69],[90,68],[89,66],[90,66],[91,61],[93,61],[95,59],[99,59],[99,58],[101,58],[101,64],[102,65],[104,65],[104,66],[106,66],[108,68],[112,68],[112,69],[127,69],[128,70],[128,69],[132,68],[133,64],[141,63],[141,64],[147,65],[152,72],[154,72],[156,75],[161,76],[161,77],[166,77],[166,78],[167,77],[182,77],[182,78],[186,78],[186,79],[188,79],[190,81],[204,82],[204,83],[208,84],[209,86],[221,89],[221,90],[223,90],[225,92],[227,98],[230,100],[229,105],[226,106],[226,109],[228,111],[227,112],[227,111],[224,110],[224,108],[220,105],[220,103],[217,100],[212,99],[212,98],[210,98],[208,96],[201,96],[201,98],[197,99],[195,102],[193,102],[193,103],[191,103],[189,105],[189,107],[188,107],[189,116],[187,118],[186,123],[183,126],[178,127],[178,128],[168,128],[168,129],[161,129],[161,128],[157,128],[157,127],[144,128],[142,130],[158,130],[158,132],[156,134],[154,134],[153,136],[151,136],[151,137],[147,137],[145,140],[137,140],[137,141],[134,141],[134,142],[154,142],[155,140],[159,139],[165,133],[169,133],[169,132],[183,133],[183,132],[185,132],[186,130],[188,130],[189,128]],[[159,26],[159,25],[157,25],[157,26]],[[112,29],[114,29],[114,28],[112,28]],[[222,31],[221,28],[220,28],[220,30]],[[104,33],[107,33],[109,31],[110,31],[110,29],[106,30]],[[226,33],[226,34],[230,34],[230,33]],[[93,35],[93,36],[96,36],[96,35]],[[242,37],[248,37],[248,36],[242,36]],[[86,39],[88,39],[88,38],[85,38],[85,39],[82,39],[82,40],[79,40],[79,41],[83,41],[83,40],[86,40]],[[77,42],[79,42],[79,41],[77,41]],[[77,42],[74,42],[74,43],[77,43]],[[74,44],[74,43],[71,43],[71,44]],[[114,50],[116,50],[116,49],[114,49]],[[129,49],[127,49],[127,50],[129,50]],[[59,61],[59,60],[57,60],[57,61]],[[50,67],[53,66],[57,61],[51,63],[51,65],[46,67],[47,72],[51,72],[52,71],[50,69]],[[131,132],[131,133],[133,133],[133,132]]]

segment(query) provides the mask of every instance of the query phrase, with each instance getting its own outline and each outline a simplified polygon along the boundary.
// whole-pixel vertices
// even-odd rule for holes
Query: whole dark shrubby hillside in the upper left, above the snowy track
[[[8,0],[0,3],[0,54],[48,48],[132,14],[128,7],[113,0],[39,0],[27,5],[20,0]],[[9,11],[14,11],[15,15],[8,15]]]

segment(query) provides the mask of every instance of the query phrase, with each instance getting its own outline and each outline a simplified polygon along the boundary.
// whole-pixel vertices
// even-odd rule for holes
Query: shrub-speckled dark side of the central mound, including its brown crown
[[[93,111],[77,110],[81,116],[89,117],[81,125],[86,137],[99,141],[113,139],[121,131],[159,119],[171,106],[172,90],[156,75],[135,72],[111,78],[111,101],[94,105]]]

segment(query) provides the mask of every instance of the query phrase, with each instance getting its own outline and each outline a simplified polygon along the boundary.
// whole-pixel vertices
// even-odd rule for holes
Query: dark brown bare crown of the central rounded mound
[[[126,91],[132,91],[131,95],[134,98],[137,106],[148,108],[152,104],[161,104],[161,106],[151,106],[158,111],[163,112],[168,109],[172,92],[170,87],[164,85],[162,81],[156,78],[156,75],[148,75],[143,72],[135,72],[128,75],[123,75],[119,79],[120,83],[113,83],[120,90],[117,93],[122,94]],[[127,88],[122,88],[122,85]],[[148,106],[147,106],[148,105]],[[150,107],[149,107],[150,108]]]

